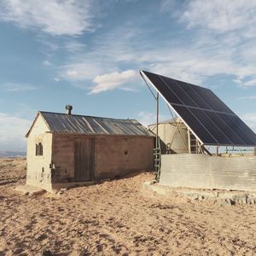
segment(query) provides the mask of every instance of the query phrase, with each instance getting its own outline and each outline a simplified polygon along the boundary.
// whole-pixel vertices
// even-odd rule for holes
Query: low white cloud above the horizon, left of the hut
[[[0,113],[0,150],[26,151],[26,131],[32,121]]]

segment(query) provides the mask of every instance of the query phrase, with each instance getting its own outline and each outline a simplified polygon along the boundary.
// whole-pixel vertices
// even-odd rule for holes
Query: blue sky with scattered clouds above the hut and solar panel
[[[251,0],[0,0],[0,150],[26,150],[38,110],[67,103],[154,122],[140,69],[210,88],[256,131],[255,13]]]

